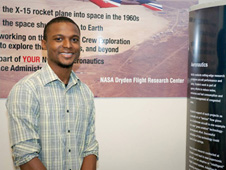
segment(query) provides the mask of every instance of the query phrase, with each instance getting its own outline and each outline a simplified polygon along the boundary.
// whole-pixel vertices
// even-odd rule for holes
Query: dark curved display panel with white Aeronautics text
[[[226,170],[226,7],[189,21],[186,170]]]

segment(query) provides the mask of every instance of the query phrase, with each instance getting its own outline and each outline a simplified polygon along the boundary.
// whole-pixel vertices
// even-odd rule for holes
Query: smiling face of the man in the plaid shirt
[[[80,55],[80,34],[70,22],[53,23],[47,29],[47,39],[42,40],[47,50],[48,63],[52,68],[71,68]]]

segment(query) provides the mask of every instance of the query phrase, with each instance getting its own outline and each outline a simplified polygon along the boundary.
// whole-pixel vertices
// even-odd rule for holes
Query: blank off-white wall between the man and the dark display
[[[96,106],[100,170],[184,169],[185,98],[97,99]]]

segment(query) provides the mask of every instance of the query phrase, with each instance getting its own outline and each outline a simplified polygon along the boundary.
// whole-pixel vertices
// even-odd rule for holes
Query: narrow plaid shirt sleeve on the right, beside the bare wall
[[[89,125],[86,132],[86,141],[85,141],[85,150],[83,153],[83,157],[88,155],[96,155],[97,159],[99,159],[99,144],[96,140],[95,135],[95,106],[94,101],[92,102],[92,111],[89,119]]]

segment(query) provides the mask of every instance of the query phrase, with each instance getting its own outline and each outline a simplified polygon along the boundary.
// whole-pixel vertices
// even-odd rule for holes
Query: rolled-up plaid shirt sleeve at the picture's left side
[[[20,166],[39,156],[38,101],[26,84],[20,84],[11,90],[6,107],[12,155],[15,165]]]

